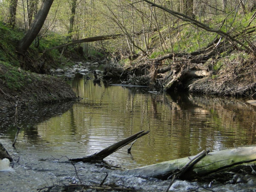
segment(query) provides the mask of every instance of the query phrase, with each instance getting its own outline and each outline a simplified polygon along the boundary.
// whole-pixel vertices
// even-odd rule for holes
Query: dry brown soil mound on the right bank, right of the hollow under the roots
[[[253,96],[256,90],[255,61],[232,63],[224,61],[224,67],[215,76],[192,80],[187,85],[191,92],[214,95]]]

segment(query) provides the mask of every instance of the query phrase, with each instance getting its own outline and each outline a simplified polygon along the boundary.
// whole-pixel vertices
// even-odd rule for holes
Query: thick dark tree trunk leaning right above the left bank
[[[35,40],[45,22],[47,14],[52,6],[52,2],[53,0],[43,0],[40,9],[31,24],[31,27],[25,33],[24,37],[20,40],[19,45],[17,46],[17,51],[19,54],[24,55],[28,47],[33,43],[33,40]]]

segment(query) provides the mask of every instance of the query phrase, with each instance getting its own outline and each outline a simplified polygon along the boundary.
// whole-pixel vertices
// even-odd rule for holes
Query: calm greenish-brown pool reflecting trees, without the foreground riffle
[[[83,100],[30,110],[20,115],[22,145],[35,153],[70,158],[95,153],[140,130],[150,130],[133,145],[112,154],[109,164],[133,168],[219,150],[233,144],[256,144],[256,111],[242,99],[166,93],[154,95],[147,88],[94,84],[85,76],[69,82]],[[0,117],[3,138],[12,139],[12,116]],[[41,146],[47,146],[40,149]]]

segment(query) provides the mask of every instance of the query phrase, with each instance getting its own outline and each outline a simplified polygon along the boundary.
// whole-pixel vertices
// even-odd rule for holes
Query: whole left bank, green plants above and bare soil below
[[[31,45],[22,63],[19,62],[15,47],[23,34],[23,31],[9,29],[0,23],[0,112],[14,107],[17,100],[19,106],[25,107],[75,99],[70,85],[62,79],[47,75],[51,68],[73,64],[70,58],[60,57],[58,50],[43,52],[45,48],[61,43],[60,38],[50,34],[40,40],[38,49]],[[71,54],[76,55],[75,52],[69,52],[69,57],[72,57]],[[76,58],[81,59],[77,55]]]

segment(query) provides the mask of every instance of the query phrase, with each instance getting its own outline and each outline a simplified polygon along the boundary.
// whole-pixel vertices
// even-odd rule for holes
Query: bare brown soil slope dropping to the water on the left
[[[22,81],[12,83],[10,86],[5,73],[10,69],[0,63],[0,112],[14,109],[19,101],[20,107],[36,105],[39,103],[59,102],[76,99],[71,87],[60,78],[17,69],[22,76]],[[14,77],[16,78],[16,77]]]

